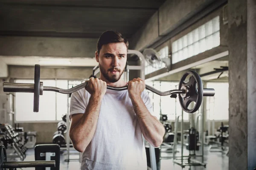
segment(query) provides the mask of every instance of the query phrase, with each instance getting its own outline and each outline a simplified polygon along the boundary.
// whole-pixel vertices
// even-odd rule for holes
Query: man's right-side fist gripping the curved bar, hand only
[[[128,94],[130,99],[140,97],[141,93],[145,89],[145,81],[141,78],[133,79],[128,82]]]

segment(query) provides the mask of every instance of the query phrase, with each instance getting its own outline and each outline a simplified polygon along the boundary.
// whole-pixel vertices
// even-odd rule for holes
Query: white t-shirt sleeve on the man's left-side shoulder
[[[73,114],[85,112],[88,97],[85,90],[79,90],[71,94],[69,118]]]

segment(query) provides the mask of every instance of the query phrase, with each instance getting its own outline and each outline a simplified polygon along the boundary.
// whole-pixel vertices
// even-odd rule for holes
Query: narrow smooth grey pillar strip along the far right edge
[[[248,170],[256,167],[256,0],[247,0]]]

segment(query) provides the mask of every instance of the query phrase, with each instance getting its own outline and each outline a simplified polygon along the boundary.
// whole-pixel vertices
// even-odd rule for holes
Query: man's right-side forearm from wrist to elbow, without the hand
[[[154,147],[158,147],[163,142],[165,133],[163,125],[149,113],[140,96],[132,97],[131,101],[144,138]]]

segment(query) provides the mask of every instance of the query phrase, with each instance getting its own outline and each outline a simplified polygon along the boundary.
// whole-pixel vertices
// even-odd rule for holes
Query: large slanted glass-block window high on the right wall
[[[172,64],[220,45],[219,16],[172,42]]]

